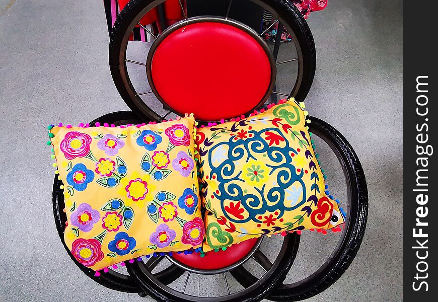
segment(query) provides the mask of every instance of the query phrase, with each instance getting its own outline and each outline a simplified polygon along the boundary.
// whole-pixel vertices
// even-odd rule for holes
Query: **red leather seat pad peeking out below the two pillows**
[[[206,252],[204,257],[199,253],[185,255],[173,253],[179,262],[196,269],[212,270],[230,266],[245,257],[257,243],[257,238],[245,240],[239,244],[228,247],[227,250]]]

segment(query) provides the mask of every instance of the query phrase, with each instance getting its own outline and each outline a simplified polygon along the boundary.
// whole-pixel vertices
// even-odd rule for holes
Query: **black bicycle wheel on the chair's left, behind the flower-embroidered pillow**
[[[132,111],[119,111],[119,112],[113,112],[106,114],[104,116],[101,116],[92,122],[90,122],[90,126],[94,126],[97,122],[103,123],[109,123],[109,124],[115,124],[116,126],[119,125],[125,125],[128,123],[131,124],[137,124],[141,123],[140,119],[132,113]],[[61,242],[67,251],[68,255],[70,256],[71,260],[75,262],[75,264],[91,279],[96,281],[97,283],[108,287],[110,289],[123,291],[123,292],[137,292],[140,295],[144,295],[141,288],[137,285],[135,280],[129,276],[124,275],[120,272],[114,271],[112,269],[109,269],[107,273],[101,273],[100,276],[95,275],[95,271],[92,270],[89,267],[86,267],[78,262],[78,260],[73,257],[68,247],[65,245],[64,242],[64,229],[65,229],[65,222],[67,221],[67,216],[63,209],[65,208],[64,204],[64,191],[63,189],[60,189],[60,186],[62,185],[62,181],[58,180],[58,177],[55,176],[54,182],[53,182],[53,215],[55,218],[55,224],[56,229],[59,234],[59,238],[61,239]],[[151,267],[155,267],[153,262],[150,262],[148,264]],[[184,271],[177,267],[176,265],[171,265],[167,267],[166,269],[158,272],[155,274],[157,279],[161,280],[162,282],[168,284],[179,278]]]

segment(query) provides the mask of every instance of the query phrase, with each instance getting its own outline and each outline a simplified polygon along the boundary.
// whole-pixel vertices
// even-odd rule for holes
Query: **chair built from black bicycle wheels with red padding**
[[[130,53],[128,42],[132,31],[143,26],[140,20],[161,3],[162,0],[130,1],[120,13],[111,34],[110,69],[120,95],[132,112],[112,113],[94,122],[121,125],[162,121],[189,112],[194,113],[199,122],[208,124],[263,108],[272,95],[291,96],[299,101],[306,97],[315,72],[315,48],[305,20],[289,1],[253,1],[272,12],[293,37],[293,43],[288,45],[295,49],[289,49],[288,53],[296,56],[279,62],[275,61],[275,49],[261,38],[262,33],[231,18],[232,1],[224,8],[223,17],[186,18],[187,9],[180,3],[183,20],[159,35],[151,33],[157,39],[147,52]],[[297,64],[293,69],[296,70],[295,82],[290,90],[278,85],[287,93],[273,93],[277,66],[283,63]],[[317,241],[319,249],[302,245],[302,250],[323,258],[320,262],[314,261],[316,267],[303,269],[313,271],[310,275],[302,279],[291,279],[288,275],[299,252],[301,236],[297,233],[248,240],[226,250],[207,252],[204,257],[199,253],[159,255],[148,261],[126,263],[126,272],[117,268],[96,275],[72,259],[84,273],[104,286],[149,294],[161,301],[258,301],[263,298],[290,301],[325,290],[347,269],[359,249],[367,220],[368,192],[362,168],[349,143],[327,123],[314,117],[310,119],[309,131],[314,139],[321,138],[329,147],[322,150],[321,155],[331,155],[332,160],[340,163],[341,169],[337,166],[336,171],[342,172],[333,171],[330,174],[334,176],[330,177],[336,183],[345,183],[341,191],[345,195],[342,205],[346,212],[342,232],[330,236],[305,232],[303,239],[306,241],[308,237],[313,244]],[[65,207],[62,190],[56,189],[59,182],[55,178],[53,202],[58,232],[63,240],[66,216],[62,211]],[[322,248],[324,253],[319,252]],[[297,261],[301,264],[303,256],[300,255]]]

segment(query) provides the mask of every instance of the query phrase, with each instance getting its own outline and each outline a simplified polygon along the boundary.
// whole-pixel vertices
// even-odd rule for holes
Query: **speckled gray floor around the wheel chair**
[[[0,10],[0,300],[149,300],[85,277],[65,254],[53,223],[46,125],[77,124],[127,109],[108,68],[102,2],[1,0]],[[308,23],[318,55],[308,110],[350,141],[370,194],[368,228],[357,257],[310,301],[400,301],[402,3],[329,0]],[[279,70],[280,82],[287,80],[288,68]],[[329,185],[342,199],[339,165],[322,142],[318,146]],[[287,280],[302,279],[327,259],[339,235],[318,235],[302,236]],[[272,259],[277,248],[263,244]],[[247,267],[260,273],[255,263]],[[193,290],[196,278],[189,285]],[[220,280],[200,284],[224,290]]]

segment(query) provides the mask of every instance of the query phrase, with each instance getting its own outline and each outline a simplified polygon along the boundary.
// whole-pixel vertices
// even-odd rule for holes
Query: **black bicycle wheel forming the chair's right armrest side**
[[[344,230],[337,246],[324,264],[307,278],[291,284],[278,285],[267,297],[273,301],[299,301],[327,289],[345,272],[353,261],[362,242],[368,216],[368,189],[365,176],[353,148],[328,123],[309,117],[309,131],[322,138],[338,158],[346,179],[348,211]],[[306,235],[304,235],[306,236]],[[269,267],[271,264],[265,262]],[[245,268],[232,272],[244,287],[257,280]]]

